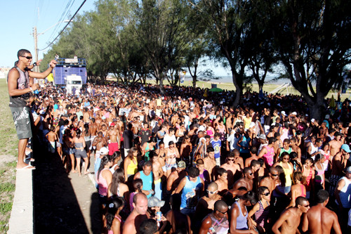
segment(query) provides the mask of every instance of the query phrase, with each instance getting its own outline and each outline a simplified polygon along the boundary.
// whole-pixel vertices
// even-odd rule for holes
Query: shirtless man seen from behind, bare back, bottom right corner
[[[303,215],[303,232],[309,231],[310,234],[341,234],[338,216],[330,209],[326,208],[329,202],[329,194],[326,190],[319,190],[316,197],[317,204],[311,207],[306,214]]]

